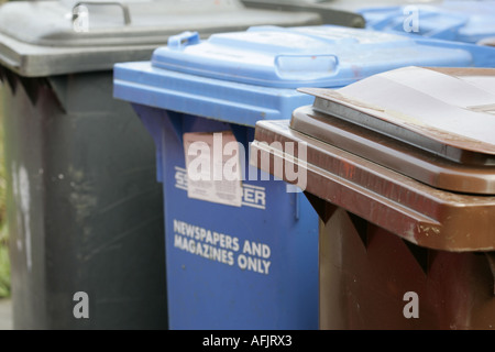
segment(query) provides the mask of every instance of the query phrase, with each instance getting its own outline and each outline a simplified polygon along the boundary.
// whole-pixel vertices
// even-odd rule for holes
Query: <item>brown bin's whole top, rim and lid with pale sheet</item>
[[[341,207],[418,245],[494,251],[495,69],[409,67],[365,80],[304,89],[314,106],[258,121],[251,163],[316,196],[323,221]],[[294,179],[294,164],[305,177]]]

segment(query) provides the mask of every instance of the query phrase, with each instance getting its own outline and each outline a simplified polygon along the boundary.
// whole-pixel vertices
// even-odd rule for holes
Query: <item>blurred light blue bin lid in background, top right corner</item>
[[[366,28],[429,38],[477,43],[495,35],[495,1],[443,1],[395,7],[363,7],[356,11]]]

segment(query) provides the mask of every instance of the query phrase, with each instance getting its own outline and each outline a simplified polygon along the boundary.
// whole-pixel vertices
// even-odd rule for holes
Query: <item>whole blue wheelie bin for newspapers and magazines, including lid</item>
[[[408,65],[487,65],[494,53],[332,25],[258,26],[205,41],[186,32],[148,62],[117,64],[113,95],[156,143],[170,329],[319,328],[317,213],[249,165],[257,121],[311,103],[298,87],[337,88]],[[305,158],[304,145],[267,147]],[[304,168],[292,172],[302,190]]]

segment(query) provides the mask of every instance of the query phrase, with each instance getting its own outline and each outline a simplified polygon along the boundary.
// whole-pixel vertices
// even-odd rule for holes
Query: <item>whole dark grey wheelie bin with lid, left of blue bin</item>
[[[168,327],[155,146],[132,108],[113,99],[112,66],[148,58],[191,23],[208,36],[320,19],[237,1],[0,8],[15,329]],[[74,315],[79,292],[88,319]]]

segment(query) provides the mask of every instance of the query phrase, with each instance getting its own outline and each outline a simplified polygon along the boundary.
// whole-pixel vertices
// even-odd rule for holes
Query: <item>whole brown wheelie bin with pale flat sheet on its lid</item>
[[[321,329],[495,328],[494,87],[495,69],[405,67],[256,124],[252,154],[307,170]]]

